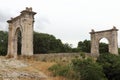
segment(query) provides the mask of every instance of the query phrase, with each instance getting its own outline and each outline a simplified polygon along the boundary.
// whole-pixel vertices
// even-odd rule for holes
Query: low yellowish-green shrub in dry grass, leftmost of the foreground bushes
[[[52,71],[53,76],[63,76],[68,80],[79,80],[76,78],[76,72],[73,71],[71,64],[55,64],[48,70]]]

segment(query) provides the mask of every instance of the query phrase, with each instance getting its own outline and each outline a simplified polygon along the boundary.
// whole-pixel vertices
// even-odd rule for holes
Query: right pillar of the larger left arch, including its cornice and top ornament
[[[32,12],[31,8],[21,12],[24,16],[23,22],[23,36],[22,36],[22,55],[32,56],[33,55],[33,23],[35,12]]]

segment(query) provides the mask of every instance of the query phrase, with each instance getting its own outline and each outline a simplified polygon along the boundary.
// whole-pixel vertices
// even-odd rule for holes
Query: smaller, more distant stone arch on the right
[[[106,38],[109,42],[109,52],[112,54],[118,55],[118,40],[117,40],[117,31],[116,27],[113,27],[110,30],[97,31],[93,29],[90,32],[91,34],[91,54],[93,56],[99,56],[99,41],[102,38]]]

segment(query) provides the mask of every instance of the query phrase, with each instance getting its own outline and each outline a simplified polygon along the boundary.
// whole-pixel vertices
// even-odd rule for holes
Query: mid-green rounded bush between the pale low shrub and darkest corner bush
[[[102,71],[102,66],[90,58],[84,60],[74,59],[72,63],[78,80],[107,80]]]

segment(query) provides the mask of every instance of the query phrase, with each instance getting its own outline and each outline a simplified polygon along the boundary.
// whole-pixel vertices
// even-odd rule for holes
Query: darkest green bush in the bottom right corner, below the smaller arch
[[[114,54],[101,54],[97,62],[102,65],[108,80],[120,80],[120,56]]]

